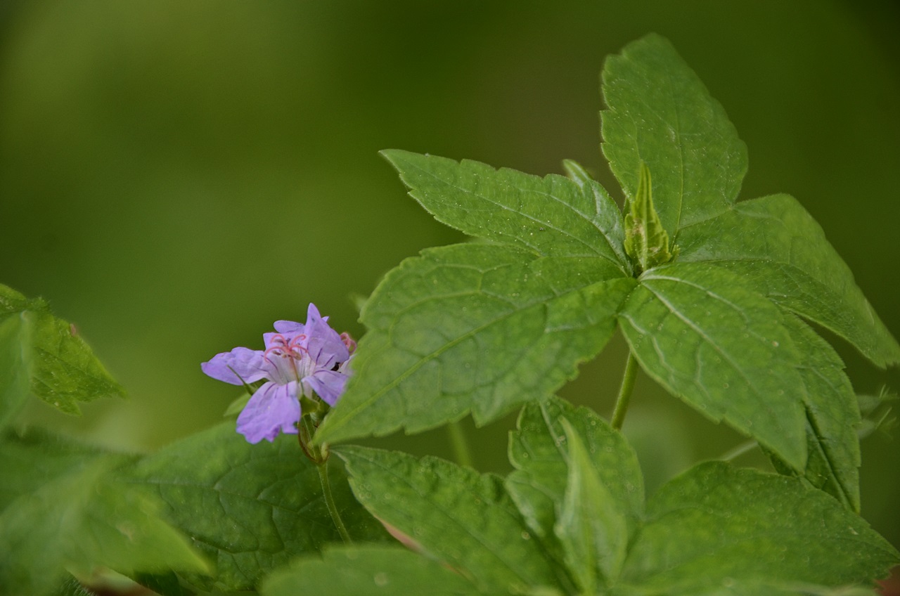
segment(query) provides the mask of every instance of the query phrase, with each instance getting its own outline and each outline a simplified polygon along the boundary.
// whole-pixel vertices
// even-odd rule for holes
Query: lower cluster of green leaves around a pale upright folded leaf
[[[594,412],[556,399],[522,412],[510,435],[519,469],[505,482],[434,457],[338,453],[367,508],[487,593],[855,593],[840,587],[900,560],[864,520],[808,483],[722,462],[689,469],[644,508],[625,439]],[[327,591],[334,574],[338,593],[374,590],[377,573],[413,565],[400,550],[356,553],[340,551],[343,561],[363,562],[352,571],[338,572],[336,555],[303,559],[266,594],[300,582]],[[436,567],[419,565],[437,577]],[[451,593],[473,593],[459,585]]]

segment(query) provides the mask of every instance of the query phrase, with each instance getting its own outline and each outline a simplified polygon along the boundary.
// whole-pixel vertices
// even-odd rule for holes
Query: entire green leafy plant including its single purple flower
[[[237,427],[157,453],[16,427],[29,394],[75,413],[122,389],[2,288],[0,592],[83,593],[105,568],[165,596],[871,593],[900,555],[860,517],[860,402],[818,330],[876,366],[900,346],[801,203],[737,200],[747,150],[668,41],[608,59],[603,95],[622,209],[572,161],[538,177],[384,151],[475,240],[385,275],[358,349],[311,304],[211,357],[246,390]],[[606,420],[555,392],[617,330]],[[703,462],[645,494],[620,433],[639,369],[771,468]],[[505,476],[349,443],[514,410]]]

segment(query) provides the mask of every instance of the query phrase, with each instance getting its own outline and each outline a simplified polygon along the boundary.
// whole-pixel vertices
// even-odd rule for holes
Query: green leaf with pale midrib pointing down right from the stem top
[[[806,468],[806,389],[784,315],[716,266],[651,269],[619,321],[644,371],[711,420]]]

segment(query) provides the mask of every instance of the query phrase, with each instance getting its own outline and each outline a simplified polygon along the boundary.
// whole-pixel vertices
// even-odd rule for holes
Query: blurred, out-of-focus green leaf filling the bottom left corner
[[[97,565],[120,573],[208,570],[160,519],[156,499],[119,482],[116,469],[129,457],[44,435],[4,438],[0,457],[4,594],[49,593],[65,570],[90,573]]]

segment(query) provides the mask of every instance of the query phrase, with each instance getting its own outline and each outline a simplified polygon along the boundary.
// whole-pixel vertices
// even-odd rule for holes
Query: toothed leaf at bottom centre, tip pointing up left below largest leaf
[[[557,570],[497,476],[437,457],[335,447],[356,498],[482,590],[554,586]]]

